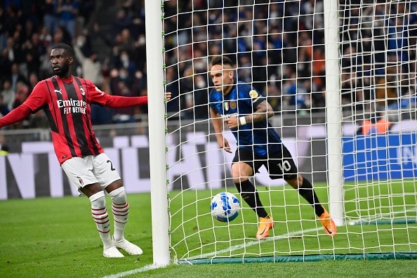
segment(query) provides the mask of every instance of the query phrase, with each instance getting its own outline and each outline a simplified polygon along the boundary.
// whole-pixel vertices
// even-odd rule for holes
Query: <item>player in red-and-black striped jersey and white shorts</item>
[[[91,124],[91,103],[106,107],[147,104],[147,97],[122,97],[100,91],[88,79],[72,75],[74,51],[67,44],[57,44],[51,51],[55,75],[39,81],[27,100],[0,119],[0,128],[44,110],[51,126],[55,154],[68,178],[91,201],[91,215],[103,243],[103,256],[120,258],[123,249],[140,255],[142,249],[124,238],[129,204],[123,183],[112,161],[95,138]],[[165,93],[167,100],[171,93]],[[110,237],[105,192],[112,199],[114,234]],[[80,232],[80,231],[78,231]]]

